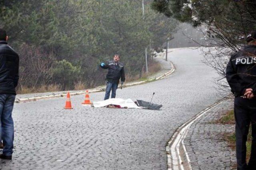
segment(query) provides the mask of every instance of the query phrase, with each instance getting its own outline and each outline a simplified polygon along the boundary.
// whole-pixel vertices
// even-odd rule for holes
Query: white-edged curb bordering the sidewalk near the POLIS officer
[[[166,144],[166,154],[167,154],[167,165],[168,170],[192,170],[190,159],[188,156],[188,152],[186,150],[186,146],[184,144],[184,140],[190,126],[201,116],[203,116],[206,112],[211,110],[214,106],[220,104],[227,98],[222,98],[218,102],[215,102],[208,108],[202,110],[202,112],[198,113],[192,119],[188,120],[182,126],[180,126],[172,135],[170,140]]]

